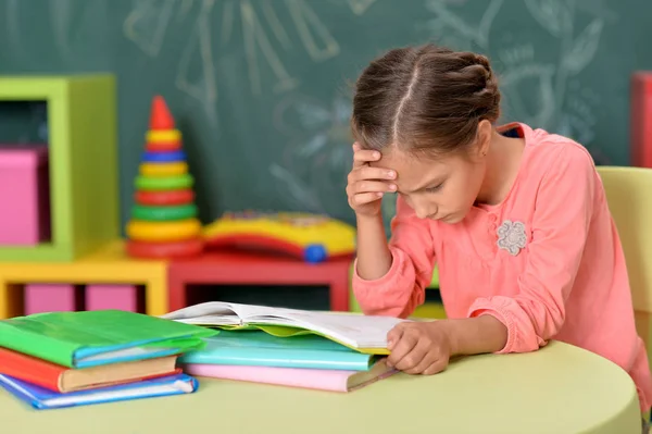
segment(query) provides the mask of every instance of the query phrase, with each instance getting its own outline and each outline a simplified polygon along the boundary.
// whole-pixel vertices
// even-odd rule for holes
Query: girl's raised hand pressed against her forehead
[[[397,190],[394,171],[371,165],[381,157],[378,151],[361,149],[360,145],[353,144],[353,169],[349,173],[347,195],[349,206],[358,215],[380,215],[380,199],[385,193]]]

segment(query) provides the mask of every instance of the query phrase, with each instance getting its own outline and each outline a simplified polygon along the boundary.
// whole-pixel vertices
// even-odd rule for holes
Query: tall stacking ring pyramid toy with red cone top
[[[196,256],[203,250],[203,241],[181,134],[163,97],[154,97],[151,110],[126,228],[127,253],[136,258]]]

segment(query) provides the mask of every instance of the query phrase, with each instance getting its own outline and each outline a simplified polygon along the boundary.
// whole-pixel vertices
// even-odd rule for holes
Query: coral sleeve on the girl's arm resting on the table
[[[507,327],[499,354],[536,350],[564,323],[591,222],[597,174],[588,152],[575,146],[565,147],[555,163],[538,189],[518,294],[479,298],[468,310],[468,317],[491,314]]]

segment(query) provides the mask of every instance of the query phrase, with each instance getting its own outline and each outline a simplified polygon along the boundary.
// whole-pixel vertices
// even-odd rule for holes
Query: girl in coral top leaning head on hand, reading
[[[390,364],[434,374],[454,355],[534,351],[554,338],[625,369],[648,411],[652,379],[625,258],[593,161],[577,142],[496,126],[486,57],[391,50],[356,83],[353,290],[367,314],[405,318],[435,262],[448,320],[388,335]],[[389,244],[380,199],[398,193]]]

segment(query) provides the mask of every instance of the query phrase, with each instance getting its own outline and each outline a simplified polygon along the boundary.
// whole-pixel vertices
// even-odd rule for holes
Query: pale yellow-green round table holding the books
[[[350,394],[200,379],[193,395],[32,410],[0,390],[0,432],[640,434],[636,388],[617,365],[551,343],[524,355],[397,374]]]

